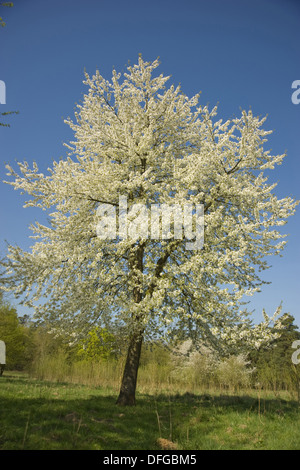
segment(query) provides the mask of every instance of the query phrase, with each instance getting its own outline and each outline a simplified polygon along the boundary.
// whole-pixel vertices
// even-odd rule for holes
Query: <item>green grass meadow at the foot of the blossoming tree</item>
[[[300,450],[299,405],[291,398],[218,393],[138,393],[135,407],[115,391],[6,372],[0,378],[0,449]]]

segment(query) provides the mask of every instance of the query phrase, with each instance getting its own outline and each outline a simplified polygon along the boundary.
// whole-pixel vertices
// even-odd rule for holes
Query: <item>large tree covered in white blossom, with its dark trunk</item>
[[[31,197],[27,206],[52,212],[49,226],[32,225],[38,241],[31,251],[9,246],[6,289],[25,294],[31,306],[44,299],[36,316],[70,335],[122,326],[128,352],[117,402],[124,405],[135,403],[145,338],[176,330],[226,347],[271,337],[269,319],[253,327],[240,306],[260,290],[266,256],[285,244],[276,227],[296,206],[267,183],[266,170],[284,155],[264,150],[265,118],[242,111],[216,120],[216,107],[200,106],[198,94],[166,88],[169,77],[155,75],[158,66],[140,56],[122,79],[115,70],[111,81],[86,74],[89,91],[76,121],[66,121],[75,134],[69,156],[48,175],[36,163],[19,163],[20,174],[7,166],[10,184]],[[133,218],[135,203],[203,204],[203,249],[187,249],[186,233],[97,236],[97,208],[118,208],[120,195]]]

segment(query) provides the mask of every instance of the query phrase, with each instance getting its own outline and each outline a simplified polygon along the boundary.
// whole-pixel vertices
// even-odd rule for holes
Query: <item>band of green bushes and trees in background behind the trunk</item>
[[[281,322],[283,328],[281,325],[278,338],[267,347],[249,349],[248,354],[218,356],[204,345],[200,350],[193,349],[191,341],[148,342],[142,350],[141,366],[148,366],[150,373],[151,365],[155,365],[156,371],[160,367],[165,382],[171,375],[174,380],[195,382],[202,388],[218,384],[224,389],[259,387],[299,392],[300,365],[294,364],[291,357],[292,344],[300,339],[300,332],[292,315],[284,314]],[[276,330],[276,323],[272,329]],[[121,331],[93,327],[83,339],[72,344],[69,338],[49,332],[28,315],[19,316],[17,309],[3,298],[0,301],[0,339],[6,343],[6,373],[19,370],[38,374],[37,364],[54,367],[62,356],[69,366],[81,362],[86,366],[105,363],[114,367],[113,363],[126,353],[122,336]]]

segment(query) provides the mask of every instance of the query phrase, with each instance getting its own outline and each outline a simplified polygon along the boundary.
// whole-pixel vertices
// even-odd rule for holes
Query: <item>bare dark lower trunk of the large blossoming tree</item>
[[[142,333],[136,333],[130,339],[117,405],[135,405],[135,390],[142,343]]]

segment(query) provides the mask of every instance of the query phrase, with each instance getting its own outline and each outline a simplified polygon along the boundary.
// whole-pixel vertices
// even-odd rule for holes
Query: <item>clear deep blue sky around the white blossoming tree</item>
[[[219,105],[223,119],[250,107],[268,115],[274,130],[266,148],[287,152],[272,172],[276,194],[300,199],[300,104],[293,104],[292,82],[300,80],[299,0],[15,0],[0,7],[6,27],[0,29],[0,80],[6,104],[0,112],[19,111],[0,127],[0,251],[5,242],[27,248],[28,225],[43,220],[37,209],[24,209],[24,197],[2,182],[5,162],[35,160],[46,170],[66,155],[64,142],[72,132],[63,122],[87,92],[84,69],[111,77],[160,57],[160,73],[172,75],[201,103]],[[300,95],[299,95],[300,96]],[[2,119],[4,121],[4,118]],[[250,299],[254,318],[264,307],[273,313],[279,303],[300,325],[299,210],[284,228],[289,233],[283,257],[270,260],[264,273],[271,281]],[[18,306],[22,315],[28,309]]]

